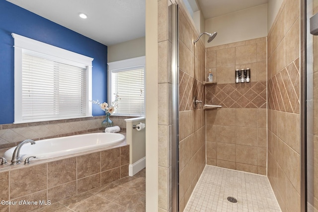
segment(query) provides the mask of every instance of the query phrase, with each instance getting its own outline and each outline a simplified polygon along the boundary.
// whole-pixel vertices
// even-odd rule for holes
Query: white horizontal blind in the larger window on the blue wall
[[[22,54],[22,120],[83,117],[86,69]]]

